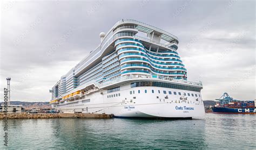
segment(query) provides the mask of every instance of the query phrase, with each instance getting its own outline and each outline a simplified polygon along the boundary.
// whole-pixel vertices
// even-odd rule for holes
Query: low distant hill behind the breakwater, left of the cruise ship
[[[1,103],[2,104],[2,103]],[[49,109],[51,105],[49,102],[21,102],[21,101],[11,101],[11,105],[22,105],[25,109],[32,108],[41,108],[41,109]]]

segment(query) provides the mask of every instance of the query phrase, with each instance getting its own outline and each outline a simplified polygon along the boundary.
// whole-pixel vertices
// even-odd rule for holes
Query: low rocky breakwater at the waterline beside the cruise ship
[[[96,113],[0,113],[0,119],[42,119],[42,118],[113,118],[113,115]]]

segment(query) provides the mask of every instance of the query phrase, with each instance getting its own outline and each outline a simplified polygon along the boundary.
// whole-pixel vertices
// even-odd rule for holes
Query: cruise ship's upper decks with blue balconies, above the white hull
[[[100,40],[95,50],[53,86],[53,101],[76,91],[138,78],[201,86],[186,81],[186,69],[177,52],[178,38],[169,32],[127,19],[117,22],[106,34],[100,33]]]

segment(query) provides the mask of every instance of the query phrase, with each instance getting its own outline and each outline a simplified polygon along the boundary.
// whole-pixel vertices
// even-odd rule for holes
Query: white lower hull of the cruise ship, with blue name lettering
[[[140,90],[140,93],[138,93],[138,90]],[[147,90],[147,93],[145,93],[145,90]],[[152,93],[152,90],[154,90],[154,93]],[[166,94],[163,91],[166,91]],[[169,94],[169,91],[172,94]],[[174,91],[177,95],[173,94]],[[181,94],[185,92],[186,95],[187,93],[194,94],[194,96],[181,96],[178,94],[179,92]],[[196,94],[197,97],[195,97]],[[112,97],[112,95],[115,96]],[[55,108],[66,113],[106,113],[113,114],[116,117],[191,118],[204,116],[204,104],[199,95],[200,92],[196,91],[161,87],[131,88],[130,84],[127,84],[120,87],[120,91],[107,93],[98,90],[79,99],[76,101],[77,104],[66,105],[72,103],[66,102],[64,106],[60,104]]]

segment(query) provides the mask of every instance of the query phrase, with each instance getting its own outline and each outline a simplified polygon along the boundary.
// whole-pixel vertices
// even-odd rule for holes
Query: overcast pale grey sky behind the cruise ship
[[[223,92],[256,97],[255,2],[235,0],[1,1],[0,89],[11,77],[12,101],[49,101],[60,76],[121,19],[176,35],[188,80],[203,82],[204,100]]]

